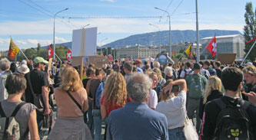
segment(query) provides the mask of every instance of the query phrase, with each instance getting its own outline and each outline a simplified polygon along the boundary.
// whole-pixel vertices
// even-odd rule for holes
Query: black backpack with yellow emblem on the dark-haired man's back
[[[213,100],[221,108],[214,130],[214,139],[254,139],[251,122],[246,112],[250,103],[242,99],[240,101],[237,106],[232,106],[224,103],[222,98]]]

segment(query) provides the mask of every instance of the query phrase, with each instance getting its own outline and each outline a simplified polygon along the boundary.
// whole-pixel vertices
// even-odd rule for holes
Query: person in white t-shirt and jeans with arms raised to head
[[[171,80],[168,81],[169,83],[161,92],[163,98],[161,99],[162,101],[158,103],[156,111],[165,114],[167,118],[169,140],[185,140],[183,128],[185,126],[186,116],[186,81],[170,81]],[[180,92],[178,86],[181,86]]]

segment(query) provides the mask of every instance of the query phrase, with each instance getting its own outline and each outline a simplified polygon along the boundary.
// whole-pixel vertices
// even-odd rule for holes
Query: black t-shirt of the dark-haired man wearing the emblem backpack
[[[237,99],[230,98],[228,96],[221,97],[226,105],[237,106],[238,102]],[[244,101],[248,102],[248,101]],[[256,107],[250,103],[248,108],[245,110],[248,113],[249,121],[252,126],[252,134],[254,138],[256,138]],[[202,132],[201,132],[201,139],[212,139],[214,135],[214,130],[216,128],[216,121],[218,118],[218,113],[221,112],[220,107],[214,103],[209,102],[205,105],[204,108],[204,117],[202,123]]]

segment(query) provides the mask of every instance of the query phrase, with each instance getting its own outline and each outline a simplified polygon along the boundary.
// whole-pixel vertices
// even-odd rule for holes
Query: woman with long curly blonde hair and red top
[[[108,125],[107,122],[110,112],[125,106],[126,99],[127,91],[125,78],[121,75],[121,73],[111,73],[111,75],[106,80],[101,98],[101,118],[105,119],[105,128],[107,128]]]

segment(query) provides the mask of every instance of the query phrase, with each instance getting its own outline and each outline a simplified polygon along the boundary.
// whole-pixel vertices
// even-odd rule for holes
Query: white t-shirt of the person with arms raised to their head
[[[165,114],[168,122],[168,129],[175,129],[185,125],[186,92],[181,90],[178,96],[161,101],[156,106],[156,111]]]

